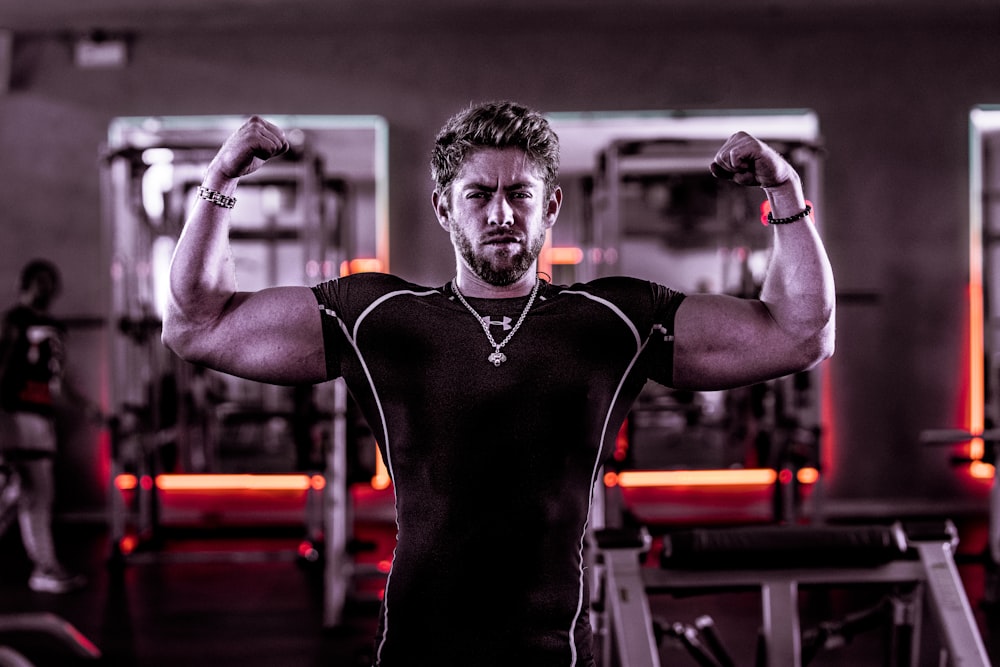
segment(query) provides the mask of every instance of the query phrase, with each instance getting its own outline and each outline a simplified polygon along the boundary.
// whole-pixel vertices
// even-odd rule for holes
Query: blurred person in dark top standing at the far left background
[[[62,391],[63,328],[49,315],[58,296],[59,270],[47,260],[28,262],[21,271],[20,297],[8,310],[0,332],[0,406],[5,421],[0,458],[5,462],[0,521],[17,505],[21,540],[34,563],[32,590],[65,593],[84,584],[66,572],[52,539],[55,500],[55,402]]]

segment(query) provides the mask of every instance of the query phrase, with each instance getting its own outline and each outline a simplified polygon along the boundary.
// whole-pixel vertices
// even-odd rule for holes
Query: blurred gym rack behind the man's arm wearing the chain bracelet
[[[383,121],[269,119],[286,131],[290,149],[267,169],[241,179],[230,232],[240,289],[313,285],[345,272],[386,270],[385,174],[379,159]],[[160,546],[171,517],[195,523],[207,517],[204,523],[214,528],[238,514],[227,515],[228,509],[199,514],[193,508],[180,519],[176,510],[167,516],[168,483],[182,476],[200,478],[197,488],[216,499],[236,488],[231,484],[238,486],[240,478],[263,486],[289,480],[304,495],[303,532],[298,547],[286,555],[322,559],[324,624],[335,626],[355,574],[350,476],[363,474],[359,466],[365,467],[354,451],[356,419],[343,383],[279,387],[251,382],[182,362],[160,343],[173,247],[204,169],[243,120],[119,118],[111,125],[101,169],[111,270],[109,321],[115,325],[109,352],[115,412],[111,560],[169,559]],[[212,480],[222,483],[212,486]],[[248,489],[260,486],[236,492],[245,497]],[[267,527],[278,516],[249,514],[240,520],[251,527]],[[200,555],[253,557],[225,550]],[[192,558],[190,550],[183,557]]]

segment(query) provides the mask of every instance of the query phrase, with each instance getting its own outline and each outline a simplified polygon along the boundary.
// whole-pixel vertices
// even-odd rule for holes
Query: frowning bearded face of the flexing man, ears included
[[[539,170],[517,148],[473,151],[451,187],[434,193],[438,221],[459,259],[497,286],[534,266],[561,202],[558,188],[545,196]]]

